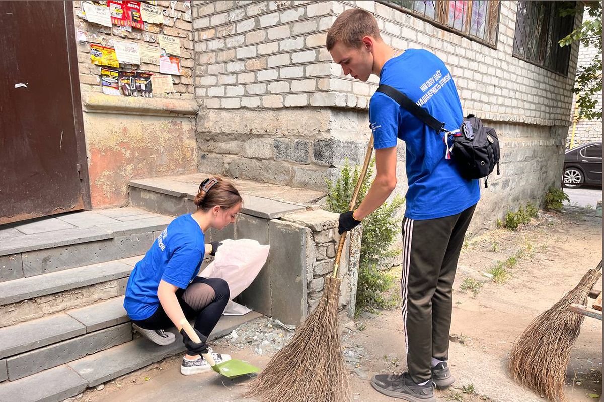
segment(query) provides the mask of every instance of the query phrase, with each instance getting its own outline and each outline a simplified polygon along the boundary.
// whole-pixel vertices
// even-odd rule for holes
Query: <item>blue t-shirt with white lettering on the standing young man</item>
[[[391,58],[382,68],[379,83],[404,93],[445,122],[448,130],[460,127],[463,112],[451,73],[431,52],[408,49],[399,57]],[[407,218],[442,218],[478,202],[478,180],[462,178],[453,161],[445,158],[443,133],[437,135],[381,92],[371,97],[369,118],[376,149],[396,146],[397,138],[405,141],[409,184],[405,196]]]

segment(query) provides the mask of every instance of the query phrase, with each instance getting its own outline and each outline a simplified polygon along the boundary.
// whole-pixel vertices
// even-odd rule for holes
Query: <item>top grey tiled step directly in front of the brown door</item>
[[[146,253],[170,216],[133,207],[0,226],[0,282]]]

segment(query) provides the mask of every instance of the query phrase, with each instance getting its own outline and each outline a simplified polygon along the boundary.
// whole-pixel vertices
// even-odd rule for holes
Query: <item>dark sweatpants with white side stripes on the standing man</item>
[[[430,379],[432,357],[447,360],[452,287],[476,205],[444,218],[403,219],[402,315],[409,374]]]

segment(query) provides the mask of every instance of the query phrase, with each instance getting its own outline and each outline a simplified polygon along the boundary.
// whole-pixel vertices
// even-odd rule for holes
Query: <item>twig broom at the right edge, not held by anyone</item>
[[[513,377],[550,401],[566,400],[564,378],[570,352],[585,316],[572,312],[572,303],[585,305],[591,288],[602,276],[602,261],[587,271],[580,283],[528,325],[510,354]]]

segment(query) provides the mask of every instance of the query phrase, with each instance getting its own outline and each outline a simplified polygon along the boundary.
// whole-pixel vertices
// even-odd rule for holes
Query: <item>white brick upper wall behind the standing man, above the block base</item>
[[[573,60],[578,46],[571,51],[567,77],[513,57],[517,2],[512,0],[501,4],[496,49],[368,0],[196,1],[193,4],[194,41],[198,49],[196,86],[215,86],[216,83],[204,80],[207,75],[234,73],[236,82],[219,80],[217,85],[249,83],[253,75],[255,81],[289,81],[287,87],[295,91],[292,81],[312,77],[314,86],[310,81],[304,84],[306,104],[333,105],[320,104],[318,100],[331,101],[329,96],[311,99],[314,93],[335,92],[344,95],[333,97],[338,99],[339,105],[367,108],[367,98],[375,90],[376,77],[368,83],[343,77],[341,68],[331,63],[329,52],[324,48],[326,32],[336,15],[350,7],[373,12],[385,42],[394,48],[425,48],[442,58],[454,76],[464,110],[493,121],[570,124],[571,89],[576,69]],[[239,78],[239,75],[245,77]],[[320,87],[318,84],[322,80],[327,80],[327,84]],[[275,90],[275,86],[272,88]],[[285,89],[286,86],[278,88]],[[207,93],[198,96],[198,102],[210,107],[205,101],[214,95],[204,91],[197,93]],[[267,94],[281,96],[281,101],[270,98],[263,104],[282,107],[289,92],[269,92],[267,87],[264,95]],[[262,94],[246,93],[243,96],[257,95]],[[240,105],[248,107],[246,105],[255,103],[242,102]],[[213,104],[221,107],[220,102]]]

